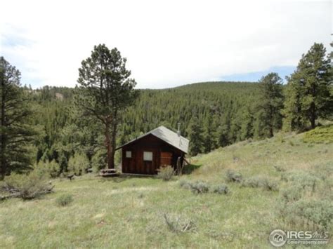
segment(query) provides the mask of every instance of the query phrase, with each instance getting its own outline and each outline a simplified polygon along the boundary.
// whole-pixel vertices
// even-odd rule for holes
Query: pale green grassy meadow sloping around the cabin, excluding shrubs
[[[279,191],[226,182],[226,171],[236,170],[244,179],[270,177],[284,189],[292,183],[282,181],[282,173],[316,174],[333,163],[332,143],[305,143],[303,134],[281,137],[239,142],[192,158],[192,173],[169,182],[154,177],[105,180],[94,175],[72,182],[54,180],[53,194],[0,202],[0,248],[270,248],[270,231],[295,228],[277,213]],[[224,183],[230,193],[192,194],[179,187],[180,179]],[[333,200],[330,192],[309,198]],[[72,195],[73,201],[60,207],[56,199],[64,194]],[[190,220],[196,229],[175,233],[164,213],[181,222]],[[329,229],[332,234],[332,226]]]

